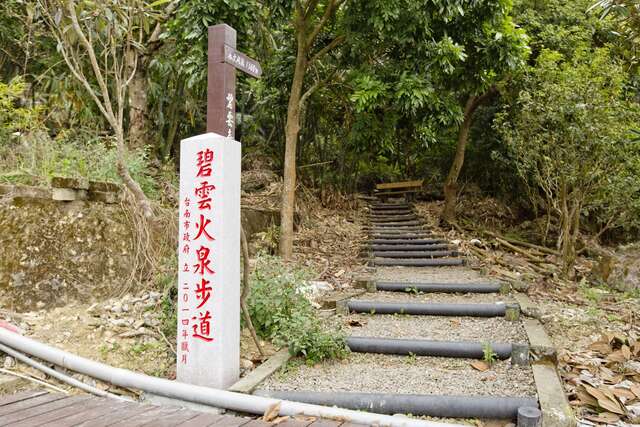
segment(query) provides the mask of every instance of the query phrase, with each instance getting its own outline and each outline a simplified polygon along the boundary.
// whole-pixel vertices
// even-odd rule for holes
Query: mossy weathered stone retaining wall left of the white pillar
[[[55,178],[0,186],[0,308],[93,300],[132,269],[133,232],[116,184]]]

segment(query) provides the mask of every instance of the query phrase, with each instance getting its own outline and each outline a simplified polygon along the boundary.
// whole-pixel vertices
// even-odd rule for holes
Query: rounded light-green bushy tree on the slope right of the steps
[[[559,218],[563,253],[575,243],[581,216],[640,225],[633,219],[640,152],[630,139],[640,115],[626,78],[607,48],[581,46],[573,57],[545,49],[523,75],[513,109],[496,121],[532,202]]]

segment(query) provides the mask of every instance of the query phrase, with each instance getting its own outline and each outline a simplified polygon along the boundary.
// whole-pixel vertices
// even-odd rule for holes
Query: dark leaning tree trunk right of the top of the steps
[[[445,223],[452,223],[456,220],[458,177],[460,176],[460,171],[464,165],[464,153],[467,148],[467,140],[469,139],[469,129],[471,129],[471,124],[473,123],[473,113],[476,111],[478,106],[496,92],[497,89],[492,87],[481,96],[471,95],[469,96],[469,99],[467,99],[467,103],[464,107],[464,118],[460,125],[460,129],[458,130],[456,154],[444,183],[444,208],[442,209],[441,219]]]

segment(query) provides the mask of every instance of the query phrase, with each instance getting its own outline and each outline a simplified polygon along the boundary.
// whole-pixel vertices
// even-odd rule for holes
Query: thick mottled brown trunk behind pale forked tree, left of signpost
[[[142,58],[140,60],[142,62]],[[147,111],[147,72],[144,64],[139,63],[131,83],[129,83],[129,146],[143,148],[148,139],[149,114]]]

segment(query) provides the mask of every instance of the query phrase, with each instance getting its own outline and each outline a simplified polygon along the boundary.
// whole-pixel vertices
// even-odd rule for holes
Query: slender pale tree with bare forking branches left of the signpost
[[[82,5],[74,0],[39,2],[69,71],[85,88],[114,133],[118,175],[143,214],[153,216],[149,200],[129,173],[124,128],[127,89],[137,65],[135,59],[127,64],[127,58],[135,58],[135,45],[142,39],[145,3],[141,0]]]

